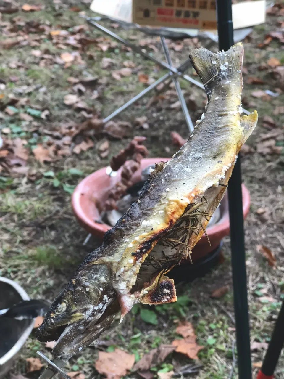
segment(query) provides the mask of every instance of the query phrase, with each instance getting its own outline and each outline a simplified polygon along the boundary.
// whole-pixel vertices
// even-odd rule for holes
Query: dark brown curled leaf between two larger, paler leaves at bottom
[[[173,351],[175,351],[175,346],[173,345],[160,345],[158,348],[152,349],[147,354],[144,354],[144,356],[135,363],[133,371],[149,370],[151,367],[164,362],[166,357]]]

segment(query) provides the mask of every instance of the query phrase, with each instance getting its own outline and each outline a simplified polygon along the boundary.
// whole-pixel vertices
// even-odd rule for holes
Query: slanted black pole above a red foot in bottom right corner
[[[267,352],[262,363],[261,372],[265,376],[273,376],[281,350],[284,344],[284,302],[282,303]],[[264,376],[259,374],[259,378]]]

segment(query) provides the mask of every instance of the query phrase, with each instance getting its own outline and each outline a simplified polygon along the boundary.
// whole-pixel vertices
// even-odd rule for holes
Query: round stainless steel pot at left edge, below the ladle
[[[22,300],[30,300],[27,292],[12,280],[0,277],[0,309]],[[0,378],[12,367],[33,325],[34,320],[30,319],[0,318]]]

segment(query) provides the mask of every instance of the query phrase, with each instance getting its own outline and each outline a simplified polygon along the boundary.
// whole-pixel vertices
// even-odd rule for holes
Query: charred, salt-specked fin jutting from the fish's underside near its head
[[[141,291],[142,296],[139,299],[142,304],[156,305],[172,303],[176,301],[176,289],[173,279],[160,275],[156,277],[154,282]]]

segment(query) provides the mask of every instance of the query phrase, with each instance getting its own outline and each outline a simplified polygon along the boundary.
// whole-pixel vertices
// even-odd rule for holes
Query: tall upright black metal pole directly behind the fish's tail
[[[219,49],[221,51],[228,50],[234,44],[231,0],[216,0],[216,5]],[[228,195],[239,378],[251,379],[250,323],[245,267],[240,155],[229,180]]]

